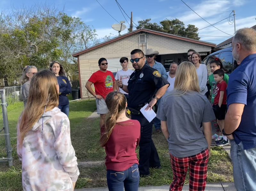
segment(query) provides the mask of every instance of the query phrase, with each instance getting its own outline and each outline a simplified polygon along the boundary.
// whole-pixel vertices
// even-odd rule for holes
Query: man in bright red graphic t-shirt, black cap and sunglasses
[[[106,58],[100,58],[98,61],[100,70],[94,72],[87,81],[85,87],[95,98],[97,106],[97,114],[100,114],[100,127],[105,122],[108,108],[105,102],[105,98],[109,92],[116,90],[116,82],[114,75],[111,71],[108,71],[108,62]],[[94,84],[95,92],[91,85]]]

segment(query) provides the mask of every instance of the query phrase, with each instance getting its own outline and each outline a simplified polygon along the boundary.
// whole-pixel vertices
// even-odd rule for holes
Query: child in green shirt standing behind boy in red
[[[219,58],[215,58],[210,62],[210,68],[211,72],[213,73],[215,70],[222,69],[223,65]],[[224,74],[223,80],[228,83],[228,75]],[[213,106],[214,98],[217,95],[217,82],[214,80],[213,74],[211,74],[208,78],[209,84],[211,86],[211,105]],[[215,141],[219,141],[222,138],[222,133],[220,132],[219,125],[217,123],[217,119],[214,119],[211,121],[214,128],[215,128],[215,134],[212,136],[212,139],[215,139]]]

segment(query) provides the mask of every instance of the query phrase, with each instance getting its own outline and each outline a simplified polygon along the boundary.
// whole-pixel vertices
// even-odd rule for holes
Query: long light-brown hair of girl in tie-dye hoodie
[[[19,120],[21,143],[35,123],[43,116],[45,111],[50,111],[59,105],[57,78],[53,72],[43,70],[34,75],[29,88],[27,105]],[[21,144],[22,145],[22,144]]]

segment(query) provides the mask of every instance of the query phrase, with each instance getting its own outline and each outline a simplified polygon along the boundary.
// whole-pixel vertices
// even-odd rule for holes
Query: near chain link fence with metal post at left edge
[[[12,166],[12,148],[7,116],[5,89],[0,90],[0,97],[0,162],[8,162],[9,166]]]

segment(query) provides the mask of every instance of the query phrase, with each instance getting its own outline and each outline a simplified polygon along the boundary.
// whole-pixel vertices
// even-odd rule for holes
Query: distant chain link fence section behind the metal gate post
[[[21,85],[3,88],[8,105],[22,101]]]

